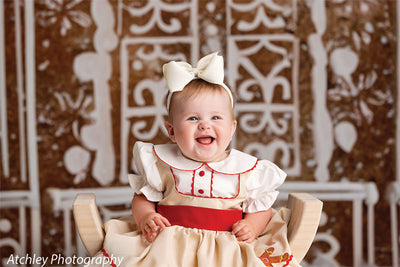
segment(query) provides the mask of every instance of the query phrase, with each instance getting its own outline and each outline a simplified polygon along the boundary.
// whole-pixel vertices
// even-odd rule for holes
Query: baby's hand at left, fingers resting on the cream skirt
[[[157,237],[158,229],[171,226],[168,219],[157,212],[147,214],[140,221],[139,227],[147,241],[153,242]]]

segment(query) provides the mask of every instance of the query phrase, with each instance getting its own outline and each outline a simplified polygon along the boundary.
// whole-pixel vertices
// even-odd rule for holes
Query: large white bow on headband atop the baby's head
[[[222,56],[218,56],[218,52],[201,58],[194,68],[186,62],[171,61],[163,65],[163,74],[170,92],[167,99],[168,110],[171,95],[174,92],[182,91],[189,82],[197,78],[223,86],[233,105],[232,93],[224,84],[224,59]]]

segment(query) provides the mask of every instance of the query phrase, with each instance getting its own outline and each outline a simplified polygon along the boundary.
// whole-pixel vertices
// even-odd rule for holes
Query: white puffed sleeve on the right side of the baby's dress
[[[247,197],[243,211],[253,213],[271,208],[278,197],[276,190],[286,179],[286,173],[268,160],[260,160],[246,181]]]

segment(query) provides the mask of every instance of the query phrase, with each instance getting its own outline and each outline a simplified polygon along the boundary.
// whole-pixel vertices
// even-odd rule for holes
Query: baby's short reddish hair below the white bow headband
[[[234,93],[232,92],[232,90],[230,90],[230,91],[231,91],[231,94],[233,96],[233,99],[235,99]],[[170,107],[169,107],[169,110],[168,110],[169,119],[172,120],[171,110],[173,108],[175,96],[179,95],[179,98],[180,98],[181,101],[187,101],[189,98],[196,97],[199,94],[216,93],[216,92],[218,92],[218,93],[223,92],[225,94],[228,94],[228,92],[226,92],[226,89],[222,85],[209,83],[209,82],[204,81],[202,79],[194,79],[194,80],[192,80],[191,82],[189,82],[185,86],[185,88],[182,91],[175,92],[172,95],[171,104],[170,104]],[[232,118],[234,118],[234,116],[233,116],[233,107],[234,107],[235,103],[231,103],[231,104],[232,104]]]

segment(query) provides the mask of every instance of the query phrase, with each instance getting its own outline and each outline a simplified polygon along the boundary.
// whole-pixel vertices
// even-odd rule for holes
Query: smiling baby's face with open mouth
[[[236,130],[228,94],[203,93],[186,101],[180,101],[177,95],[173,102],[172,122],[166,122],[165,126],[182,154],[200,162],[225,159],[225,150]]]

